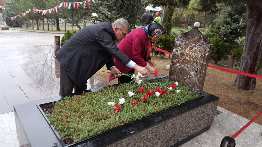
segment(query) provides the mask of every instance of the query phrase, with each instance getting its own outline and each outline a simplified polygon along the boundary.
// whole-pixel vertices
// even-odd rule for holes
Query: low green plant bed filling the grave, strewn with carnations
[[[180,105],[198,96],[183,85],[170,90],[172,84],[175,82],[159,80],[142,82],[140,85],[134,83],[111,86],[99,92],[68,96],[51,103],[50,108],[42,109],[61,138],[70,144],[139,120],[148,114]],[[144,88],[144,93],[141,92],[141,87]],[[155,93],[156,88],[161,90],[160,96]],[[152,92],[152,96],[148,96],[148,90]],[[129,96],[130,92],[134,94]],[[121,98],[125,99],[125,103],[120,101]],[[137,101],[136,104],[134,100]],[[114,102],[115,106],[110,106],[108,102]],[[120,106],[119,110],[116,105]]]

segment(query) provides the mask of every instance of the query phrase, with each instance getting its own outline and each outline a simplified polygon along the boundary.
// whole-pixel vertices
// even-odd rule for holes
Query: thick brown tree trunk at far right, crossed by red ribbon
[[[247,32],[245,45],[238,71],[257,74],[262,52],[262,1],[247,2]],[[238,75],[236,88],[251,90],[255,88],[256,78]]]

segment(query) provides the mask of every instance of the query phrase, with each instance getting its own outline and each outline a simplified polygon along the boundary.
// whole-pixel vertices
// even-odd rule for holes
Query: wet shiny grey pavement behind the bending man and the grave
[[[59,95],[60,64],[54,46],[43,45],[54,44],[54,35],[63,34],[0,31],[0,114],[14,111],[16,104]],[[105,85],[93,76],[87,89]]]

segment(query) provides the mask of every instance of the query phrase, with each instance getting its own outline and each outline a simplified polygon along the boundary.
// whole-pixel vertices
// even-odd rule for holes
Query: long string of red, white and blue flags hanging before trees
[[[50,8],[50,9],[46,9],[46,10],[39,10],[39,9],[33,7],[32,10],[29,9],[28,11],[26,11],[24,13],[20,13],[21,15],[18,14],[18,15],[15,15],[13,17],[8,17],[8,19],[13,21],[17,17],[21,17],[21,16],[24,17],[26,14],[29,14],[29,12],[31,12],[31,11],[34,12],[34,13],[40,13],[42,15],[47,15],[47,13],[49,13],[49,14],[51,14],[51,13],[52,14],[58,13],[58,10],[62,11],[61,10],[62,7],[65,8],[65,9],[71,9],[71,7],[73,9],[75,9],[75,8],[78,9],[80,5],[84,5],[84,9],[85,9],[86,7],[90,8],[90,4],[91,4],[91,0],[81,1],[81,2],[64,2],[63,1],[59,5],[57,5],[57,6],[53,7],[53,8]],[[7,19],[7,17],[6,17],[6,19]]]

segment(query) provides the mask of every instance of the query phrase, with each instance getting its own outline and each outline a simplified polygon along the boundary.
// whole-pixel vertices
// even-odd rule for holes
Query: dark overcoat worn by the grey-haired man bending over
[[[105,64],[114,66],[113,57],[126,65],[130,58],[119,51],[112,24],[100,22],[79,30],[57,51],[56,57],[68,78],[81,86]]]

